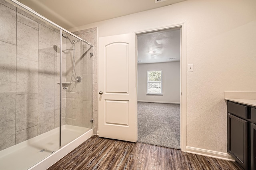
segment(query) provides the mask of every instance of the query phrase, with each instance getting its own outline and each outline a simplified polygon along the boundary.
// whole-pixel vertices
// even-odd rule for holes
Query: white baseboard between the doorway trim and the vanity
[[[224,153],[224,152],[216,152],[213,150],[206,150],[206,149],[200,149],[200,148],[194,148],[194,147],[186,147],[186,152],[192,153],[192,154],[199,154],[202,156],[208,156],[212,158],[234,161],[234,159],[228,153]]]

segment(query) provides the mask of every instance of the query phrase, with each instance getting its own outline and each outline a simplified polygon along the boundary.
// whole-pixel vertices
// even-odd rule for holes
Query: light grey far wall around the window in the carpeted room
[[[148,70],[162,70],[163,95],[147,95]],[[180,62],[138,64],[138,101],[180,104]]]

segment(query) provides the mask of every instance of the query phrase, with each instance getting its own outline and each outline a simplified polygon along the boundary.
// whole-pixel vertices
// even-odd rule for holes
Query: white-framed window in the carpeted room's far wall
[[[147,94],[162,94],[162,70],[148,71]]]

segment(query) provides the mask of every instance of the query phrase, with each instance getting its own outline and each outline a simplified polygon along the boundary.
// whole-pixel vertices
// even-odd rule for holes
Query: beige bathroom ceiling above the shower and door
[[[167,6],[185,0],[18,0],[65,29]]]

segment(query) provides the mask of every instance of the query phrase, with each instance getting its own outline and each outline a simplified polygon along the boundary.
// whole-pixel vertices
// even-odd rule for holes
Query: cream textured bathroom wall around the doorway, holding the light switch
[[[187,0],[163,8],[76,27],[99,37],[184,22],[187,146],[226,152],[224,91],[256,91],[256,0]],[[93,17],[93,16],[92,16]]]

